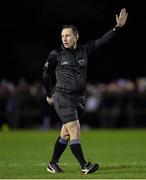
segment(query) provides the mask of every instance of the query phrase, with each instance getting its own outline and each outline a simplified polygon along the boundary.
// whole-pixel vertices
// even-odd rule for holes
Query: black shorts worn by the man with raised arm
[[[54,108],[63,124],[80,120],[85,109],[85,96],[55,92]]]

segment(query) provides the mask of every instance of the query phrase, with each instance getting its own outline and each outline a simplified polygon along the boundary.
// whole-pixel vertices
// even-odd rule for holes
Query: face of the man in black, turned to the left
[[[61,32],[62,43],[65,48],[75,48],[78,37],[74,35],[71,28],[65,28]]]

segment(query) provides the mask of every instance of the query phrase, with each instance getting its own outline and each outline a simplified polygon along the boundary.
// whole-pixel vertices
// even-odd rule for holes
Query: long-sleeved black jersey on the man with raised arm
[[[107,43],[115,32],[116,29],[113,28],[101,38],[79,45],[76,49],[61,46],[51,51],[43,69],[46,95],[52,96],[54,79],[56,91],[70,94],[83,93],[86,89],[89,54]]]

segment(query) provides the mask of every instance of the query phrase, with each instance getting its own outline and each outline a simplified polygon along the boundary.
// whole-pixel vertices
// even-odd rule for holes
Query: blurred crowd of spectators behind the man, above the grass
[[[0,81],[0,127],[49,129],[59,126],[53,106],[44,96],[41,80]],[[146,78],[88,83],[84,127],[146,126]]]

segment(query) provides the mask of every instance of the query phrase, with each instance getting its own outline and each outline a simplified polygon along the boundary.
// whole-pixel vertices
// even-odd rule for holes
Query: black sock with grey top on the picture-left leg
[[[67,147],[67,143],[68,143],[68,140],[64,140],[61,137],[59,137],[56,140],[53,156],[52,156],[50,163],[56,163],[59,161],[60,156],[62,155],[65,148]]]

